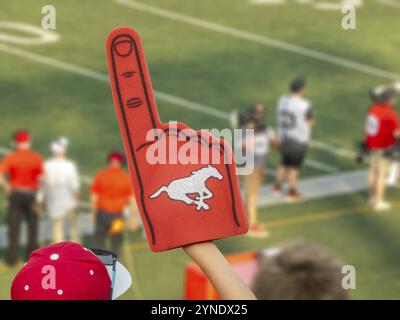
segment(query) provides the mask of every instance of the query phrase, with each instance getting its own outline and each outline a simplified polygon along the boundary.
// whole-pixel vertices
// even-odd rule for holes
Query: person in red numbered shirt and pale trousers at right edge
[[[385,201],[386,178],[390,167],[389,152],[397,142],[400,123],[394,108],[396,91],[385,90],[379,97],[373,97],[365,122],[365,144],[371,154],[368,184],[370,203],[375,210],[388,210]]]

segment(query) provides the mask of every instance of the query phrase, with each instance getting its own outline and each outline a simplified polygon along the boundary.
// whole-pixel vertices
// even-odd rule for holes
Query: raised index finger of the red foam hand
[[[127,27],[113,30],[107,39],[107,56],[121,131],[136,150],[146,141],[147,132],[160,124],[138,34]]]

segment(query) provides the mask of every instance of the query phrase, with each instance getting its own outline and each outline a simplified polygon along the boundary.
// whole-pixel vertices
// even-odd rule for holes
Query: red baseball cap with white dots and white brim
[[[117,265],[116,280],[113,299],[132,283],[121,264]],[[123,289],[118,288],[121,286]],[[60,242],[31,254],[13,280],[11,299],[110,300],[111,292],[111,274],[91,250],[77,243]]]

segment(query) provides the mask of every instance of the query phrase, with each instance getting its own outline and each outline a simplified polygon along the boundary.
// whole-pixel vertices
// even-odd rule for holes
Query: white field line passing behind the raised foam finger
[[[19,48],[14,48],[5,44],[0,44],[0,51],[4,51],[10,54],[13,54],[15,56],[21,57],[21,58],[25,58],[25,59],[29,59],[35,62],[39,62],[45,65],[49,65],[64,71],[68,71],[71,73],[75,73],[75,74],[79,74],[88,78],[92,78],[98,81],[102,81],[102,82],[109,82],[108,76],[104,73],[100,73],[97,71],[93,71],[87,68],[83,68],[80,66],[76,66],[70,63],[66,63],[66,62],[62,62],[56,59],[52,59],[40,54],[36,54],[30,51],[26,51],[26,50],[22,50]],[[223,112],[223,111],[219,111],[218,109],[200,104],[200,103],[196,103],[196,102],[192,102],[165,92],[160,92],[157,90],[154,90],[154,94],[156,95],[156,97],[162,101],[165,102],[169,102],[171,104],[186,108],[186,109],[190,109],[190,110],[194,110],[197,111],[199,113],[204,113],[204,114],[208,114],[211,116],[214,116],[216,118],[225,120],[225,121],[229,121],[230,119],[230,115],[227,112]],[[329,153],[335,154],[335,155],[340,155],[343,156],[346,153],[349,153],[350,151],[347,150],[342,150],[340,148],[336,148],[334,146],[329,146],[323,142],[320,141],[312,141],[311,145],[314,148],[317,149],[321,149],[324,151],[327,151]]]

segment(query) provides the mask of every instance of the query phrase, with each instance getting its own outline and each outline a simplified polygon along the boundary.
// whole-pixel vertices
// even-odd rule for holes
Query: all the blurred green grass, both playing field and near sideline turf
[[[379,1],[364,1],[357,10],[357,29],[351,31],[341,28],[339,11],[317,10],[295,1],[274,6],[250,5],[248,0],[139,3],[400,73],[400,42],[394,32],[400,30],[400,10]],[[40,26],[41,8],[46,4],[48,1],[44,0],[3,1],[0,22]],[[63,70],[60,63],[106,75],[105,38],[120,25],[131,26],[140,33],[156,90],[225,113],[262,101],[269,108],[268,122],[274,124],[278,97],[287,91],[293,76],[304,75],[317,119],[314,139],[333,149],[354,149],[362,137],[368,89],[390,81],[387,77],[160,17],[114,0],[53,0],[52,4],[57,9],[59,41],[21,45],[0,40],[0,146],[10,146],[10,135],[16,128],[30,128],[35,148],[47,155],[51,139],[65,135],[71,141],[71,158],[77,161],[81,173],[88,176],[104,165],[109,149],[121,148],[111,93],[101,77]],[[15,48],[23,53],[13,53]],[[32,61],[32,53],[58,63]],[[196,129],[222,129],[228,125],[225,119],[165,99],[158,99],[158,106],[163,121],[179,120]],[[352,159],[320,149],[312,148],[309,158],[339,171],[358,168]],[[277,161],[276,153],[272,154],[269,166],[275,167]],[[303,172],[303,176],[321,174],[327,172],[310,166]],[[398,196],[399,192],[393,191],[391,199]],[[331,212],[361,206],[354,214],[331,219],[278,224],[268,240],[244,236],[219,244],[230,253],[298,237],[316,240],[355,265],[357,290],[352,292],[353,298],[398,299],[398,210],[375,214],[363,203],[364,195],[354,194],[266,208],[263,219],[270,221],[307,214],[327,214],[329,218]],[[4,222],[4,208],[5,200],[0,198],[0,222]],[[131,242],[136,281],[142,295],[132,291],[125,298],[181,298],[183,268],[188,261],[183,252],[150,253],[147,247],[136,245],[143,242],[140,234],[131,235]],[[0,260],[0,298],[8,298],[15,270],[7,270],[1,263]]]

